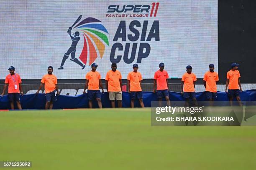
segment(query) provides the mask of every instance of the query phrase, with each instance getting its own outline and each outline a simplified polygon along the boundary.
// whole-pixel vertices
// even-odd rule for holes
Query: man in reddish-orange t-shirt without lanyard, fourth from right
[[[165,97],[165,100],[167,101],[167,105],[169,106],[171,105],[171,102],[169,99],[169,92],[168,92],[168,78],[169,78],[169,75],[167,71],[164,70],[164,63],[161,62],[159,64],[159,70],[157,70],[154,75],[154,89],[153,89],[153,93],[156,92],[160,107],[161,107],[161,101],[163,97]]]

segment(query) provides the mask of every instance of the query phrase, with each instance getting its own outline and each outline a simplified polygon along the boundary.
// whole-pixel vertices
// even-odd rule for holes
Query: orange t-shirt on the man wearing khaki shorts
[[[109,92],[120,92],[121,91],[120,82],[119,82],[120,79],[122,79],[122,75],[121,75],[120,71],[109,70],[107,72],[105,80],[108,80],[108,91]]]

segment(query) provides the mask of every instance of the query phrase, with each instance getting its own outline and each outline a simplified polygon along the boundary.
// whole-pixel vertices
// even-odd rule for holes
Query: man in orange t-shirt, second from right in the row
[[[219,81],[218,73],[214,72],[214,64],[209,65],[209,71],[205,72],[203,81],[207,100],[214,100],[217,97],[216,83]]]

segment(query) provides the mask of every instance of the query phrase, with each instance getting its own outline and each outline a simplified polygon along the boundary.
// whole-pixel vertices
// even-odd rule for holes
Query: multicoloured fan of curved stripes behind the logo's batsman
[[[100,55],[100,58],[102,58],[105,52],[105,46],[109,46],[109,41],[107,36],[108,30],[101,24],[101,21],[96,18],[86,18],[74,28],[84,37],[84,47],[79,56],[79,59],[84,65],[87,63],[88,55],[89,65],[96,60],[98,54]]]

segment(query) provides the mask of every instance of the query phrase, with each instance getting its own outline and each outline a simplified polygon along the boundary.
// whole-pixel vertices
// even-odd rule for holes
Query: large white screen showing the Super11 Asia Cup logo
[[[49,65],[59,79],[83,79],[93,62],[102,78],[112,62],[123,78],[134,63],[153,78],[160,62],[170,77],[192,65],[202,78],[210,63],[218,71],[217,15],[217,0],[3,0],[1,79],[10,65],[22,79],[41,79]]]

